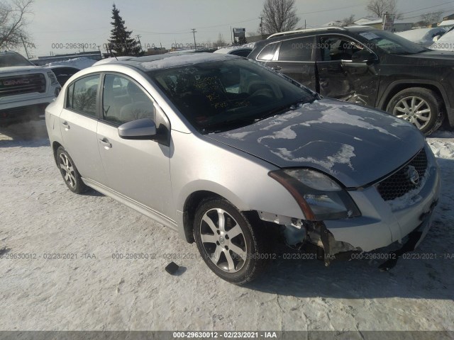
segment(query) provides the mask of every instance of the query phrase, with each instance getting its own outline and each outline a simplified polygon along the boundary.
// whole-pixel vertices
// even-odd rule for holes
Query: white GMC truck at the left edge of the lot
[[[60,93],[51,69],[35,66],[16,52],[0,53],[0,124],[44,115]]]

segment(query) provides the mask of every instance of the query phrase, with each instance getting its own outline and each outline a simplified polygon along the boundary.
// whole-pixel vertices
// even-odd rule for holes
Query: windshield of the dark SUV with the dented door
[[[421,45],[415,44],[387,30],[368,30],[359,34],[362,38],[373,42],[377,47],[392,55],[414,55],[428,51],[428,49],[421,47]]]

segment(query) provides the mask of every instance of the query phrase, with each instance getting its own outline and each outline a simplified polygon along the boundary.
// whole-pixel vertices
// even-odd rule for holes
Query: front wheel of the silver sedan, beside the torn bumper
[[[219,223],[220,216],[223,216],[224,222]],[[213,222],[211,227],[206,222],[207,220]],[[237,226],[240,229],[237,229]],[[213,227],[216,228],[216,233],[213,231]],[[265,227],[260,227],[262,226],[251,225],[248,218],[228,200],[209,198],[203,200],[196,210],[194,239],[201,257],[211,271],[230,283],[243,285],[258,278],[272,257],[269,252],[270,247]],[[237,233],[238,230],[241,234],[228,236],[229,232]],[[208,242],[202,241],[202,238],[207,241],[207,238],[210,237],[213,239]],[[217,261],[216,251],[219,251]],[[228,261],[228,256],[231,262]]]

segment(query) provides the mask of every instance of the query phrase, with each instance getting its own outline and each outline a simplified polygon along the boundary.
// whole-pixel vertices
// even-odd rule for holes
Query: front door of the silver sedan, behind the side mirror
[[[102,111],[97,145],[109,188],[174,219],[170,146],[155,140],[124,140],[118,136],[119,125],[140,118],[153,119],[158,133],[169,134],[169,120],[139,84],[122,74],[104,76]]]

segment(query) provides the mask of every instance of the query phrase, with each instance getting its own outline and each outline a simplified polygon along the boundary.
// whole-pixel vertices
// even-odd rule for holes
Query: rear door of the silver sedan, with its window
[[[96,138],[100,80],[100,74],[89,74],[67,87],[60,130],[63,147],[70,154],[79,174],[85,179],[105,184],[106,175]]]

